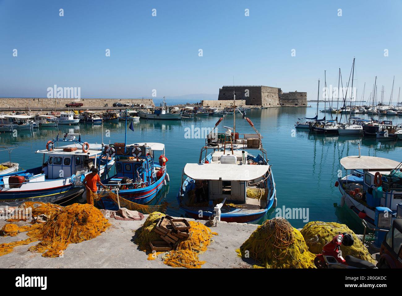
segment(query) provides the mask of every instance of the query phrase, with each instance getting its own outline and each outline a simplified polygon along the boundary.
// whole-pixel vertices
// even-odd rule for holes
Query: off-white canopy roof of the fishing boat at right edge
[[[392,170],[400,161],[374,156],[347,156],[340,159],[340,164],[346,170]]]

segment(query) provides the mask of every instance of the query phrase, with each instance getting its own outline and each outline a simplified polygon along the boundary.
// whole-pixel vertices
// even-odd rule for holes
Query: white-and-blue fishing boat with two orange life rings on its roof
[[[0,205],[64,203],[83,193],[80,182],[92,168],[98,168],[101,177],[108,173],[114,158],[104,153],[103,145],[80,138],[80,134],[65,134],[62,140],[50,140],[46,149],[35,151],[43,155],[41,166],[0,176]]]

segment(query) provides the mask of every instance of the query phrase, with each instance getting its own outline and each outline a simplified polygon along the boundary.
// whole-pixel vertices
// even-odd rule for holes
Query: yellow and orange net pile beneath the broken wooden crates
[[[151,241],[158,241],[160,235],[154,232],[154,227],[158,223],[158,220],[165,216],[162,213],[151,213],[146,219],[144,226],[138,230],[138,237],[135,241],[139,248],[144,252],[150,251],[149,243]],[[186,267],[186,268],[201,268],[201,265],[205,261],[199,260],[199,255],[207,250],[207,246],[211,243],[212,235],[217,235],[215,232],[196,221],[189,221],[189,238],[182,240],[178,243],[174,250],[169,252],[157,252],[150,253],[148,260],[157,258],[157,255],[164,254],[162,256],[163,263],[172,267]]]

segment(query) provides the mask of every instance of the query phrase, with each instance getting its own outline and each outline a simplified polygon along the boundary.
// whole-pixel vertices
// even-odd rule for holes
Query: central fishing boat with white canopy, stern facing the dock
[[[222,119],[205,139],[199,162],[186,164],[183,169],[177,194],[179,207],[195,219],[257,221],[277,203],[271,166],[261,141],[263,137],[249,118],[246,120],[254,133],[239,134],[235,116],[233,128],[224,126],[226,131],[219,133],[217,126]],[[249,151],[258,151],[258,154]]]

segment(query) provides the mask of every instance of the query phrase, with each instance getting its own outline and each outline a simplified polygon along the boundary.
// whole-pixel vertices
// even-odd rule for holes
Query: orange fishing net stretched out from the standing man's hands
[[[154,212],[166,212],[166,208],[168,206],[167,202],[164,202],[161,205],[140,205],[139,203],[134,203],[121,196],[118,197],[114,192],[112,192],[109,189],[103,190],[100,193],[98,193],[95,200],[101,198],[109,199],[113,201],[116,205],[120,204],[121,208],[126,208],[130,211],[139,211],[140,213],[143,214],[150,214]]]

